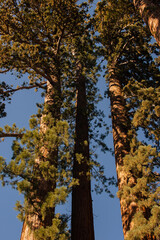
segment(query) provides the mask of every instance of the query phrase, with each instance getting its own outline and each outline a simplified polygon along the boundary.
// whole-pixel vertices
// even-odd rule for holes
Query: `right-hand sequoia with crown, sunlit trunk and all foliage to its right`
[[[141,94],[145,89],[149,91],[147,89],[151,90],[153,86],[159,86],[157,83],[159,71],[150,53],[150,34],[136,14],[130,1],[102,1],[98,4],[96,17],[97,21],[99,20],[97,22],[100,32],[99,39],[104,46],[104,56],[108,62],[108,74],[106,78],[109,82],[114,151],[119,187],[118,195],[121,204],[124,237],[125,239],[158,239],[159,231],[157,231],[157,227],[159,226],[159,221],[156,217],[158,215],[156,214],[159,212],[157,202],[159,175],[157,175],[157,179],[156,177],[151,178],[152,174],[153,176],[155,175],[154,171],[157,167],[158,155],[156,149],[152,149],[151,146],[147,148],[146,144],[143,145],[135,140],[137,139],[137,130],[139,130],[140,127],[143,128],[144,124],[142,123],[143,121],[140,123],[140,121],[136,119],[140,117],[138,113],[140,114],[143,108],[140,106],[140,110],[139,104],[141,103],[143,105],[145,104],[144,102],[148,102],[149,104],[149,96],[148,100],[145,98],[141,98],[140,100],[137,96],[138,90],[136,94],[132,92],[135,86],[137,86],[136,88],[138,88],[138,86],[144,88],[144,90],[139,89]],[[138,85],[140,82],[141,84]],[[130,83],[129,88],[131,92],[129,96],[127,96],[125,92],[127,88],[124,90],[127,83]],[[158,91],[159,87],[156,89],[156,91]],[[129,102],[129,105],[127,105],[127,102]],[[136,106],[135,102],[137,104]],[[156,102],[155,105],[155,108],[158,109]],[[127,106],[129,106],[129,108]],[[146,113],[146,116],[147,115]],[[155,125],[156,131],[159,132],[158,116],[159,115],[154,116],[153,125]],[[139,124],[135,124],[137,121]],[[151,124],[151,122],[148,124]],[[135,125],[138,128],[135,128]],[[146,137],[149,135],[151,135],[151,132],[148,132]],[[159,138],[157,138],[157,140],[159,141]],[[143,156],[143,152],[145,151],[146,155]],[[133,158],[133,156],[135,157]],[[137,161],[134,162],[133,159],[135,160],[136,158]],[[148,176],[148,174],[144,172],[147,171],[150,161],[152,162],[153,168],[150,169],[151,172],[148,173]],[[133,170],[133,165],[136,166],[136,164],[142,164],[142,166],[144,164],[144,169],[141,170],[139,174],[135,174],[135,170]],[[142,171],[144,172],[142,173]],[[155,184],[153,191],[155,199],[149,204],[153,190],[150,188],[153,182]],[[145,189],[145,184],[148,190]],[[140,189],[142,185],[143,188]],[[145,194],[143,191],[145,191]],[[146,202],[148,202],[148,204],[146,204]],[[157,209],[157,211],[155,210],[155,215],[153,209]],[[138,221],[137,212],[139,212],[139,214],[141,212],[142,214],[141,221]],[[154,218],[157,219],[156,223],[152,222]],[[139,225],[135,223],[136,221],[139,222]],[[144,222],[147,227],[144,227]],[[132,233],[130,233],[130,231]]]

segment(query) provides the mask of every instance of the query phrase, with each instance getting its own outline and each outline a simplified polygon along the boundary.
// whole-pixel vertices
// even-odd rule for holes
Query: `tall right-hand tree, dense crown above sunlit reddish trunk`
[[[150,34],[143,26],[143,22],[137,16],[130,1],[101,1],[98,4],[96,14],[96,17],[99,20],[98,30],[100,33],[100,41],[104,45],[103,51],[108,61],[108,75],[106,77],[109,81],[113,139],[124,238],[158,239],[159,235],[156,232],[156,224],[152,225],[153,228],[149,229],[148,227],[148,232],[146,230],[144,231],[144,233],[142,226],[139,225],[140,228],[138,228],[138,225],[135,224],[135,222],[133,221],[133,219],[136,219],[135,216],[138,211],[141,211],[146,222],[149,223],[149,219],[153,220],[153,218],[151,217],[152,214],[149,215],[147,213],[147,211],[149,210],[144,207],[143,212],[140,207],[140,202],[143,205],[145,202],[145,197],[142,195],[143,197],[139,199],[140,201],[138,203],[137,200],[135,200],[136,197],[133,197],[133,192],[130,192],[129,194],[129,191],[126,190],[126,186],[129,186],[130,189],[134,188],[134,186],[137,186],[137,182],[139,180],[138,176],[135,175],[131,170],[132,167],[130,169],[126,167],[126,164],[128,164],[128,166],[132,166],[133,158],[129,159],[129,157],[127,158],[127,156],[129,156],[129,154],[132,155],[132,151],[136,149],[133,148],[132,145],[132,142],[134,142],[132,140],[132,119],[134,119],[133,121],[135,121],[136,115],[133,118],[134,111],[131,109],[129,111],[126,107],[127,105],[125,91],[123,90],[123,87],[127,84],[129,79],[136,79],[136,82],[143,82],[144,79],[149,80],[153,78],[154,70],[151,66],[155,66],[155,63],[152,60],[149,50]],[[142,86],[143,83],[141,87]],[[133,86],[130,85],[131,89],[132,87]],[[138,104],[138,97],[136,99]],[[140,158],[138,159],[137,160],[140,161]],[[146,161],[149,162],[149,155],[148,160]],[[145,174],[143,177],[145,178]],[[157,186],[156,181],[155,186]],[[157,194],[156,191],[157,187],[154,191],[155,195]],[[122,192],[124,195],[122,194]],[[128,195],[130,196],[130,199],[127,199]],[[149,199],[149,195],[147,197]],[[158,207],[156,200],[153,200],[153,205],[156,205]],[[150,207],[152,208],[151,205]],[[148,226],[149,225],[150,223],[148,224]],[[130,235],[130,230],[133,230],[133,232],[137,231],[139,235]]]

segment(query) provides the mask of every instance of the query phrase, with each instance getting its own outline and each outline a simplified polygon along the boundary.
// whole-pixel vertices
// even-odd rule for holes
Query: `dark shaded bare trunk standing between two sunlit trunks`
[[[77,112],[73,177],[79,185],[72,190],[72,240],[94,240],[93,210],[89,166],[88,119],[85,78],[79,65],[77,74]],[[80,157],[80,159],[79,159]]]

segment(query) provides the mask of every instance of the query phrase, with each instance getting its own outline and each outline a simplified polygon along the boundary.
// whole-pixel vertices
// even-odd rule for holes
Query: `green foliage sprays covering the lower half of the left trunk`
[[[71,171],[68,170],[71,157],[69,152],[65,151],[69,144],[68,124],[65,121],[58,121],[53,126],[52,121],[54,119],[48,116],[49,129],[44,134],[35,128],[35,118],[32,119],[31,126],[34,127],[34,130],[27,130],[20,141],[13,141],[12,160],[8,164],[4,163],[3,159],[1,161],[3,184],[9,183],[9,177],[10,184],[25,196],[24,207],[20,203],[17,205],[17,209],[20,211],[19,217],[23,221],[26,214],[32,215],[36,212],[43,222],[51,209],[66,201],[71,191],[70,186],[73,185]],[[54,159],[50,156],[50,149],[53,146],[58,146],[61,148],[60,151],[63,151],[63,156],[59,158],[58,169],[53,164]],[[42,148],[47,152],[45,158],[42,154]],[[49,186],[55,182],[55,179],[57,188],[54,190]],[[45,189],[45,186],[48,189]]]

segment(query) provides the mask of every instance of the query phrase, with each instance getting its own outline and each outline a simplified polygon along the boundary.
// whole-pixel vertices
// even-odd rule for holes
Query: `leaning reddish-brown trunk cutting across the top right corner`
[[[151,34],[160,46],[160,2],[159,0],[133,0]]]

